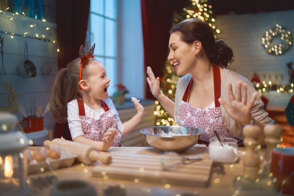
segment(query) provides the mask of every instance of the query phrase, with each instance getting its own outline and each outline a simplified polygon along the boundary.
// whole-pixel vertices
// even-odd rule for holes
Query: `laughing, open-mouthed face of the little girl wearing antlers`
[[[94,99],[107,99],[110,79],[106,75],[103,64],[97,60],[92,60],[87,67],[87,72],[89,73],[87,79],[88,95]]]

